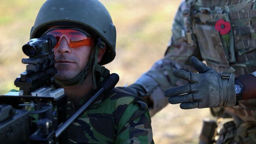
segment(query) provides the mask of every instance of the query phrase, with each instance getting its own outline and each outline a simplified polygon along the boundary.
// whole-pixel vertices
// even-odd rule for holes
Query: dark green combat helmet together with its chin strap
[[[111,16],[98,0],[47,0],[37,14],[30,39],[39,38],[51,26],[70,26],[85,29],[96,39],[95,51],[87,67],[73,79],[56,83],[64,86],[82,84],[89,69],[93,69],[93,88],[96,88],[96,76],[106,77],[109,70],[102,67],[115,58],[116,29]],[[97,62],[98,49],[107,45],[101,61]]]

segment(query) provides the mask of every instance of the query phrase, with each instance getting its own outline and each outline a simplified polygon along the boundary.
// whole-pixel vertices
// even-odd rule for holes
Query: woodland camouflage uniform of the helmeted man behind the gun
[[[77,105],[68,101],[67,117],[87,100],[84,97]],[[32,116],[36,122],[38,117]],[[141,97],[114,88],[69,127],[68,143],[154,144],[150,122],[147,104]]]

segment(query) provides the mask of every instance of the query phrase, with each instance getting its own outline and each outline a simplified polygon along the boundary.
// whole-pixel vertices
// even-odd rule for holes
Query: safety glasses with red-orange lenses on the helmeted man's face
[[[54,48],[59,47],[61,40],[65,38],[69,47],[76,48],[84,45],[93,45],[93,38],[89,37],[86,32],[75,28],[56,28],[50,29],[45,32],[46,34],[52,34],[57,40],[57,44]]]

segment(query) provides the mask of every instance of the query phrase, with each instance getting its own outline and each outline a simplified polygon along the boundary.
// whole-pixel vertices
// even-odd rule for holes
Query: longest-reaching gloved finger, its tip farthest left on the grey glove
[[[177,96],[180,94],[186,94],[190,92],[190,88],[189,88],[190,84],[187,85],[183,85],[183,86],[178,86],[175,88],[169,88],[168,90],[165,90],[164,95],[166,97],[173,97],[173,96]]]

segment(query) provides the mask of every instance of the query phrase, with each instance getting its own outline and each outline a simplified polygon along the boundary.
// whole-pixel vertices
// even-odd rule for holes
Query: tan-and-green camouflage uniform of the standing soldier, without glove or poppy
[[[161,103],[154,91],[161,88],[162,92],[158,94],[162,94],[168,86],[179,86],[182,83],[171,76],[174,68],[195,72],[189,61],[191,56],[205,60],[208,66],[218,72],[232,66],[236,69],[236,76],[250,73],[256,76],[254,2],[255,0],[186,0],[180,4],[165,58],[155,64],[168,61],[165,64],[171,64],[171,68],[163,65],[170,72],[164,72],[161,65],[154,66],[135,82],[135,85],[143,87],[145,93],[151,94],[153,103],[161,105],[154,108],[155,112],[159,110],[156,108],[163,108],[166,102]],[[231,30],[228,34],[221,35],[215,29],[215,23],[220,19],[230,22]],[[154,89],[148,83],[156,83]],[[217,109],[212,109],[215,115],[220,114]],[[225,108],[225,112],[234,121],[224,124],[218,143],[256,143],[256,99],[241,100],[239,105]]]

